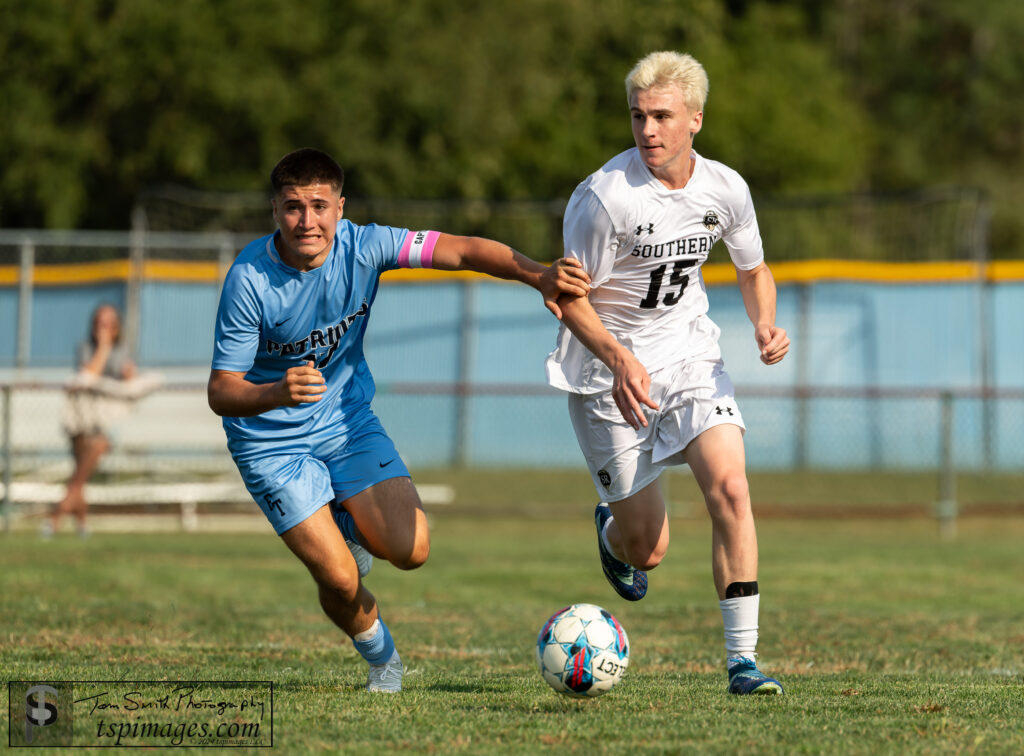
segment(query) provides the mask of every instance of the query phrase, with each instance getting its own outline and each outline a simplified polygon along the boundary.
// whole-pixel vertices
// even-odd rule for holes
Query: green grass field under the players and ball
[[[272,680],[288,754],[1024,753],[1024,517],[968,517],[951,541],[924,517],[765,518],[761,661],[787,695],[751,700],[725,694],[707,519],[674,517],[647,598],[627,604],[586,489],[572,516],[544,517],[536,485],[481,492],[476,513],[463,486],[431,514],[426,566],[375,566],[400,696],[361,689],[365,664],[269,534],[0,538],[4,677]],[[526,517],[494,505],[517,495]],[[538,630],[575,601],[630,635],[602,699],[559,697],[536,670]]]

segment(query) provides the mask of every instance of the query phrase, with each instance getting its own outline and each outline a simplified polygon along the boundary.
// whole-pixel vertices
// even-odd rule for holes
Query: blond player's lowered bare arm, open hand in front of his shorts
[[[589,299],[564,296],[559,298],[558,303],[565,327],[611,371],[611,395],[623,418],[634,428],[646,426],[647,418],[641,405],[657,409],[657,404],[648,393],[650,375],[646,368],[608,332]]]

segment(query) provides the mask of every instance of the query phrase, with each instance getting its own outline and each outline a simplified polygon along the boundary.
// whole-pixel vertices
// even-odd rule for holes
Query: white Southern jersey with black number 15
[[[700,266],[719,239],[737,268],[764,260],[746,182],[693,158],[689,181],[670,190],[636,148],[627,150],[588,176],[565,208],[565,256],[583,262],[601,323],[648,372],[717,345]],[[611,388],[611,371],[564,324],[546,369],[548,382],[566,391]]]

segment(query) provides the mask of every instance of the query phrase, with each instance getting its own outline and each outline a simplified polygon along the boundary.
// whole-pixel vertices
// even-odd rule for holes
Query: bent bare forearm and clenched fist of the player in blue
[[[297,407],[321,401],[327,390],[323,374],[312,363],[289,368],[280,381],[252,383],[245,373],[210,371],[206,387],[210,409],[222,417],[253,417],[278,407]]]

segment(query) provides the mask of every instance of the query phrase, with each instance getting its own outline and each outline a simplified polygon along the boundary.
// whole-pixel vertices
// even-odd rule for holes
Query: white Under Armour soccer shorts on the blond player
[[[569,418],[601,501],[622,501],[666,467],[684,464],[683,450],[709,428],[728,423],[746,429],[720,359],[668,366],[650,379],[659,409],[644,407],[647,426],[639,429],[623,418],[610,390],[569,394]]]

